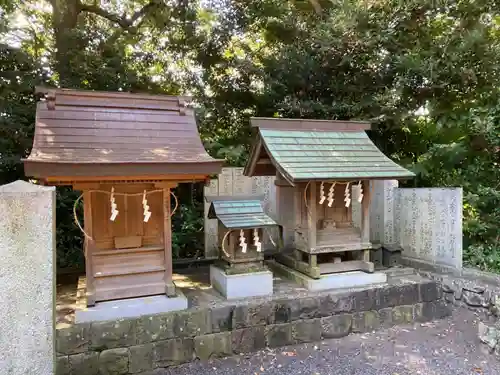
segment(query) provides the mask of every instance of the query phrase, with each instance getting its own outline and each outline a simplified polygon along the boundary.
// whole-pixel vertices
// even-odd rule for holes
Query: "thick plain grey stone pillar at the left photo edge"
[[[55,188],[0,186],[0,374],[55,372]]]

